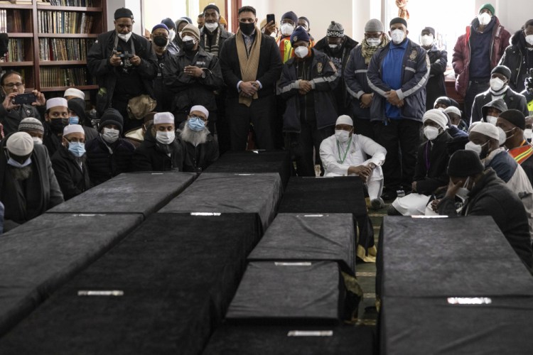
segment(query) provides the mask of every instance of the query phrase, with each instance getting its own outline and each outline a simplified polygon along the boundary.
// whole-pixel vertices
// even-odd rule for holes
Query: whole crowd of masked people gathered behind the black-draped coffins
[[[522,239],[512,245],[532,266],[533,20],[511,36],[491,4],[480,6],[453,48],[461,106],[446,93],[448,53],[434,28],[416,43],[404,18],[388,27],[370,19],[357,42],[331,21],[316,40],[294,11],[279,23],[258,21],[251,6],[237,17],[234,35],[210,4],[198,26],[164,18],[141,36],[134,13],[117,9],[114,29],[87,54],[97,126],[80,90],[48,100],[34,90],[17,103],[23,76],[5,72],[4,230],[119,173],[201,173],[229,150],[286,149],[295,175],[360,176],[370,208],[388,201],[390,214],[490,214],[508,239],[525,225],[529,249]],[[474,198],[489,186],[502,206],[521,203],[512,218],[525,224],[509,231],[508,209]]]

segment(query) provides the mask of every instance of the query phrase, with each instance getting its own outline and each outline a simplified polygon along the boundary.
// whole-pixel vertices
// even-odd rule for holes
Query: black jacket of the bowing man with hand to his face
[[[455,201],[445,197],[438,204],[438,214],[456,215]],[[529,269],[533,266],[529,224],[524,204],[515,192],[509,190],[492,168],[483,172],[468,194],[468,202],[461,211],[463,216],[490,216],[494,219],[512,249]]]

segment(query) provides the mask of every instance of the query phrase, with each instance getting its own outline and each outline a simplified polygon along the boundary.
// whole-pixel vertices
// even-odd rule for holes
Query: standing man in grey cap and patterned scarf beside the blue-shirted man
[[[354,120],[354,131],[374,138],[373,124],[370,122],[370,105],[374,92],[367,80],[368,64],[379,48],[389,45],[389,37],[383,31],[383,23],[372,18],[365,24],[365,38],[350,52],[344,77],[346,89],[350,94],[350,115]]]

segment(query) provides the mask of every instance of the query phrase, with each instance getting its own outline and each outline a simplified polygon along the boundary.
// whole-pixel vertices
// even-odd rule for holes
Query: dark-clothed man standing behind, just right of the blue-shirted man
[[[448,52],[438,50],[435,41],[435,29],[426,27],[421,33],[421,45],[426,50],[431,64],[429,80],[426,85],[426,111],[434,108],[435,100],[438,97],[448,96],[446,85],[444,84],[444,72],[448,64]]]

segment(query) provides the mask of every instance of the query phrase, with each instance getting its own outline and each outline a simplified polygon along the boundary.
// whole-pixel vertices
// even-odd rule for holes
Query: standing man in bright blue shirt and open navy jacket
[[[424,48],[407,38],[407,21],[393,18],[389,28],[392,42],[376,51],[367,72],[374,91],[370,120],[376,122],[377,143],[387,149],[384,200],[411,191],[430,70]]]

